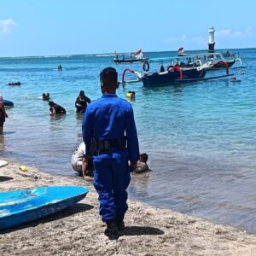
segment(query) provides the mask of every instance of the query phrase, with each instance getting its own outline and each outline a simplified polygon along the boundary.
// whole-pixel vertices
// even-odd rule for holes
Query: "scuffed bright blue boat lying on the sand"
[[[26,224],[81,201],[84,187],[41,187],[0,193],[0,230]]]

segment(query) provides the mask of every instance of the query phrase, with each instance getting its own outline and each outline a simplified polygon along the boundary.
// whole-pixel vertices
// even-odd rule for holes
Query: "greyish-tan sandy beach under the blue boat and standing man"
[[[6,160],[6,159],[2,159]],[[126,229],[116,240],[104,235],[96,191],[79,177],[53,176],[8,160],[0,168],[0,190],[82,185],[83,201],[47,218],[0,233],[2,255],[255,255],[256,236],[171,210],[129,201]]]

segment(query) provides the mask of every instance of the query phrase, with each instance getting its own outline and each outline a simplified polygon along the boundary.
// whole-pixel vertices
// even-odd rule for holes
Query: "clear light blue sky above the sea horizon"
[[[212,3],[212,4],[211,4]],[[256,47],[256,1],[0,0],[0,56]]]

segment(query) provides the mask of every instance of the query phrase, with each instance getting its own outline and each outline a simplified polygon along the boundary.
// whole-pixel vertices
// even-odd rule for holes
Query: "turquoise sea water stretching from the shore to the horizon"
[[[256,234],[256,49],[234,51],[247,64],[246,69],[232,72],[240,83],[224,78],[152,89],[127,84],[117,94],[125,98],[127,91],[136,92],[131,103],[140,148],[148,153],[154,170],[132,177],[130,196]],[[148,53],[149,57],[174,54]],[[94,100],[101,96],[102,68],[116,67],[119,77],[125,67],[142,69],[139,64],[116,66],[112,58],[0,58],[0,93],[15,102],[15,108],[7,110],[0,154],[74,176],[71,155],[82,141],[83,116],[77,116],[74,108],[79,90]],[[61,72],[55,69],[60,63]],[[207,73],[215,74],[219,72]],[[9,86],[10,81],[21,85]],[[67,115],[49,117],[47,102],[38,99],[43,92],[66,108]]]

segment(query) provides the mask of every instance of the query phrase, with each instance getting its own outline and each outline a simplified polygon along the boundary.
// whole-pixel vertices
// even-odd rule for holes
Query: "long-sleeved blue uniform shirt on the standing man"
[[[127,138],[129,160],[139,160],[137,130],[131,103],[115,94],[105,94],[86,108],[83,121],[83,139],[86,154],[90,154],[90,140]]]

